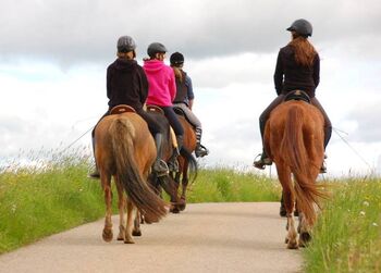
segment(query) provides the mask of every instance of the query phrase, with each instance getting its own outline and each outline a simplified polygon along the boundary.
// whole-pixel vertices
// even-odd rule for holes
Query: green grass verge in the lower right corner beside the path
[[[381,179],[346,179],[332,188],[304,250],[306,272],[381,272]]]

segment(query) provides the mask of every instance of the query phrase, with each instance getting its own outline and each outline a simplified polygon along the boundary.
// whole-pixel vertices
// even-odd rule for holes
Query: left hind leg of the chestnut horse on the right
[[[278,163],[276,165],[278,176],[279,181],[282,184],[283,188],[283,201],[284,207],[286,210],[286,218],[287,218],[287,235],[285,238],[285,243],[287,244],[287,248],[290,249],[297,249],[298,245],[296,241],[297,238],[297,232],[295,228],[295,220],[294,220],[294,203],[295,203],[295,197],[294,193],[292,190],[292,179],[291,179],[291,171],[290,167]]]

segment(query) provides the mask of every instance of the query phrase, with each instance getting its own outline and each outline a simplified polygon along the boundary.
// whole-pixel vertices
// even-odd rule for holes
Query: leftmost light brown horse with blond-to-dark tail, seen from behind
[[[165,202],[147,184],[150,167],[156,159],[156,148],[146,122],[132,112],[103,117],[95,129],[95,157],[107,208],[102,237],[106,241],[110,241],[113,236],[111,222],[111,177],[113,176],[119,197],[118,239],[133,244],[132,234],[140,234],[138,221],[135,221],[134,227],[137,211],[145,215],[148,223],[158,222],[168,212]],[[127,207],[126,225],[125,207]]]

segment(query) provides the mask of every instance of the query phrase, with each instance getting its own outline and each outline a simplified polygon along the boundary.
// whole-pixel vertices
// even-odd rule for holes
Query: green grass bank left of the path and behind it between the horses
[[[90,160],[82,153],[32,152],[36,167],[13,162],[0,170],[0,253],[105,215],[100,183],[86,177]],[[50,160],[38,160],[39,156]],[[276,201],[279,197],[275,181],[216,169],[200,170],[187,201]]]

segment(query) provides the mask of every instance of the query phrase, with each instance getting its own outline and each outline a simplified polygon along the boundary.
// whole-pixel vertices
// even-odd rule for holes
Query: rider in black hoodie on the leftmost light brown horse
[[[103,116],[109,115],[111,109],[120,104],[127,104],[134,108],[136,113],[147,122],[149,131],[155,136],[157,159],[152,166],[153,171],[157,172],[158,175],[164,175],[169,172],[167,163],[161,159],[163,156],[162,138],[164,128],[161,128],[161,126],[143,110],[143,106],[148,95],[148,82],[143,67],[135,61],[136,44],[132,37],[122,36],[119,38],[116,47],[118,59],[107,69],[107,97],[109,98],[109,110]],[[93,149],[95,147],[95,127],[91,133]],[[90,176],[99,177],[98,170],[90,174]]]

